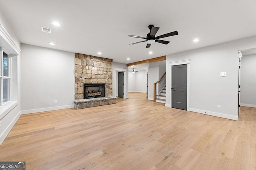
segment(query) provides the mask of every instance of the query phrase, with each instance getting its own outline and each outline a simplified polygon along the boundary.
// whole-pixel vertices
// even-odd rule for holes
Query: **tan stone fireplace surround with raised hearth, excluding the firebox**
[[[84,83],[106,84],[106,97],[84,99]],[[116,103],[116,97],[112,97],[112,59],[75,53],[74,103],[76,109]]]

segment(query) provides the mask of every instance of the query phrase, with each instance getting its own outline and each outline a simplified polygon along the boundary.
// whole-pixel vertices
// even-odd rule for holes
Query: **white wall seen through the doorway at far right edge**
[[[256,55],[242,58],[241,106],[256,107]]]

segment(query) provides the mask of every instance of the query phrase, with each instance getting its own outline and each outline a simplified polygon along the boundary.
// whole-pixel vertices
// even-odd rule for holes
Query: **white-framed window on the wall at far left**
[[[10,101],[10,55],[0,47],[0,106]]]

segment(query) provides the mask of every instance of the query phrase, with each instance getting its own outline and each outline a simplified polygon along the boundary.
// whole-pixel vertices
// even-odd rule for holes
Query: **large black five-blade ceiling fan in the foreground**
[[[157,31],[159,30],[159,27],[154,27],[153,25],[149,25],[148,28],[149,28],[150,32],[147,34],[147,38],[140,37],[140,36],[132,36],[132,35],[129,35],[128,37],[146,39],[146,40],[141,41],[141,42],[147,42],[146,48],[149,48],[150,45],[154,42],[163,43],[165,45],[169,43],[168,41],[158,40],[159,38],[165,38],[165,37],[178,35],[178,31],[174,31],[174,32],[170,32],[170,33],[163,34],[161,36],[156,37],[155,35],[156,35]],[[136,42],[136,43],[141,43],[141,42]],[[129,45],[134,45],[136,43],[131,43]]]

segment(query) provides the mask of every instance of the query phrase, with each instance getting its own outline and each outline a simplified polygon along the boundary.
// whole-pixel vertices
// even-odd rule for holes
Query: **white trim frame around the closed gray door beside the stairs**
[[[172,107],[172,66],[173,65],[182,65],[187,64],[188,72],[187,72],[187,111],[190,111],[190,59],[180,60],[180,61],[172,61],[169,62],[170,69],[170,107]]]

